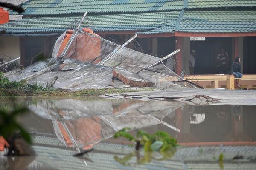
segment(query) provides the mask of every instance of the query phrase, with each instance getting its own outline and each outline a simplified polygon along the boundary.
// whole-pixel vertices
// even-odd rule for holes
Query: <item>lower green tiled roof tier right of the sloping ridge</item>
[[[176,31],[256,32],[256,11],[186,11]]]

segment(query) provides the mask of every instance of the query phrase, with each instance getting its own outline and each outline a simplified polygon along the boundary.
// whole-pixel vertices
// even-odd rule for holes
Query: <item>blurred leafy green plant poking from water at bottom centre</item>
[[[162,161],[171,158],[176,152],[177,140],[172,138],[169,133],[158,131],[153,135],[146,133],[143,130],[137,131],[137,136],[134,137],[128,133],[130,128],[124,128],[118,131],[114,138],[124,137],[131,142],[136,142],[136,151],[127,154],[123,158],[114,156],[114,159],[122,165],[131,166],[129,161],[136,156],[137,164],[145,164],[152,159]],[[140,147],[144,149],[144,156],[140,156]]]

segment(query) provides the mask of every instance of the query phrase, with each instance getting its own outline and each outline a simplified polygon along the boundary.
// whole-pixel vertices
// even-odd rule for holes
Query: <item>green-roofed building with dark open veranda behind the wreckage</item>
[[[157,57],[180,48],[177,74],[190,74],[191,50],[196,51],[194,74],[227,74],[236,56],[244,74],[256,74],[256,0],[29,0],[23,8],[22,20],[0,26],[6,30],[2,39],[18,37],[21,65],[31,64],[41,51],[49,57],[56,38],[76,28],[88,11],[83,26],[105,39],[122,44],[138,34],[128,47]],[[228,54],[225,70],[216,61],[221,48]]]

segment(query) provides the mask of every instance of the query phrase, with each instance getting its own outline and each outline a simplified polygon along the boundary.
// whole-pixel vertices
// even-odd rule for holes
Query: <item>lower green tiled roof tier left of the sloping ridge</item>
[[[85,25],[94,31],[152,31],[150,34],[171,32],[175,28],[179,11],[137,13],[137,14],[113,14],[88,16]],[[0,25],[0,30],[6,30],[7,34],[24,33],[56,33],[63,32],[73,25],[77,26],[77,20],[81,17],[40,17],[24,18]],[[86,20],[87,21],[87,20]]]

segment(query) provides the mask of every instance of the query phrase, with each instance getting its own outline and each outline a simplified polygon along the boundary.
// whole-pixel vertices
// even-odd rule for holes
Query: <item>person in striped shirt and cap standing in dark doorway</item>
[[[224,47],[220,48],[220,52],[216,58],[217,58],[217,72],[227,74],[228,54],[227,52],[225,52]]]

